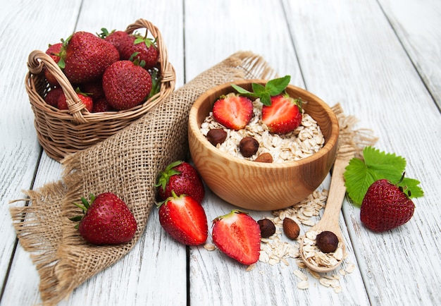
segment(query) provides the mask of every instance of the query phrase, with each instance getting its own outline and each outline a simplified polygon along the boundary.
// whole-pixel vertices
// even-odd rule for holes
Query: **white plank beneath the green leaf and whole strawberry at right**
[[[416,212],[408,224],[378,234],[362,226],[359,209],[344,203],[369,300],[373,305],[436,305],[441,300],[441,262],[435,255],[440,252],[435,239],[440,233],[441,169],[437,106],[378,2],[284,4],[292,16],[290,27],[308,90],[330,104],[341,102],[347,114],[359,118],[359,126],[372,128],[380,137],[376,147],[405,157],[407,175],[421,180],[426,192],[414,201]],[[437,23],[431,20],[428,23]],[[433,43],[439,50],[440,41]],[[421,262],[430,267],[415,267]]]

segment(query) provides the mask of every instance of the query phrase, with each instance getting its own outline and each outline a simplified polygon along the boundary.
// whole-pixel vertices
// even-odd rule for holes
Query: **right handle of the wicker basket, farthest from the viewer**
[[[128,25],[128,27],[125,29],[125,32],[127,32],[128,34],[132,34],[133,32],[135,32],[135,30],[141,28],[145,28],[149,30],[151,36],[156,38],[156,44],[159,50],[158,61],[161,68],[161,82],[173,82],[173,87],[174,87],[175,70],[173,66],[171,66],[171,64],[168,62],[167,48],[163,42],[163,38],[158,27],[156,27],[149,20],[139,18],[138,20],[135,21],[135,23]]]

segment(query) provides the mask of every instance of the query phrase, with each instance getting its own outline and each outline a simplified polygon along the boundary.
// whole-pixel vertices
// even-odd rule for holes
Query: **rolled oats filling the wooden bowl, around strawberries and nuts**
[[[270,153],[273,162],[296,161],[318,152],[325,143],[320,126],[309,114],[303,114],[302,123],[291,133],[285,135],[271,134],[268,127],[261,122],[262,104],[259,99],[253,102],[254,116],[243,130],[225,128],[213,118],[213,113],[201,124],[201,133],[206,136],[213,128],[222,128],[227,132],[227,139],[216,147],[240,159],[254,160],[262,153]],[[243,157],[239,150],[242,138],[251,136],[259,142],[259,150],[252,157]]]

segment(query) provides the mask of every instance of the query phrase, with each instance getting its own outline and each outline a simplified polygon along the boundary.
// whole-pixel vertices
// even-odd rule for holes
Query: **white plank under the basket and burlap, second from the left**
[[[36,11],[40,9],[40,7],[35,8]],[[68,8],[57,9],[61,14],[72,14]],[[79,9],[77,7],[73,11]],[[124,30],[138,18],[150,20],[161,30],[167,46],[171,46],[168,47],[170,62],[177,71],[183,71],[182,16],[182,6],[179,1],[173,3],[168,1],[167,4],[132,1],[130,6],[121,1],[83,1],[76,30],[99,32],[101,27],[107,27],[109,30],[114,28]],[[73,30],[71,28],[61,35],[52,36],[57,39],[67,37]],[[50,37],[45,40],[47,39]],[[182,84],[183,74],[180,73],[177,86]],[[21,135],[16,135],[16,138],[20,139],[20,137]],[[60,173],[54,173],[54,169],[58,169],[57,165],[44,154],[35,188],[51,180],[58,180],[61,177]],[[25,270],[31,271],[30,274],[24,274]],[[185,305],[186,278],[185,246],[178,245],[166,235],[154,209],[147,222],[145,235],[142,235],[134,249],[112,267],[77,288],[62,304],[145,305],[155,301],[159,305]],[[5,302],[5,305],[32,305],[40,302],[38,283],[37,271],[30,262],[29,255],[18,247],[2,302]],[[22,290],[23,295],[18,296],[17,293]],[[173,290],[173,295],[169,294],[170,290]]]

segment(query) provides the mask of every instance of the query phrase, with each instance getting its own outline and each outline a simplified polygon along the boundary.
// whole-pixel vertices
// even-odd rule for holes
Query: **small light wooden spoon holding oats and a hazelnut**
[[[335,233],[339,241],[339,246],[341,244],[343,254],[344,254],[345,246],[342,237],[342,231],[340,230],[340,226],[338,224],[338,220],[340,216],[340,209],[342,209],[344,195],[346,193],[343,173],[344,173],[344,169],[349,164],[349,160],[352,159],[352,157],[354,157],[353,146],[344,145],[339,148],[333,167],[333,175],[331,178],[330,190],[328,194],[328,200],[325,206],[325,212],[323,212],[323,216],[321,220],[318,222],[318,224],[316,224],[309,230],[309,231],[315,231],[317,233],[320,233],[322,231],[331,231]],[[323,267],[323,266],[318,267],[314,264],[311,264],[311,262],[309,262],[305,258],[303,252],[305,238],[306,238],[306,234],[304,235],[304,238],[300,242],[300,257],[302,257],[302,260],[306,265],[306,267],[316,272],[325,273],[328,271],[332,271],[338,266],[340,266],[343,259],[340,259],[338,263],[333,267]]]

